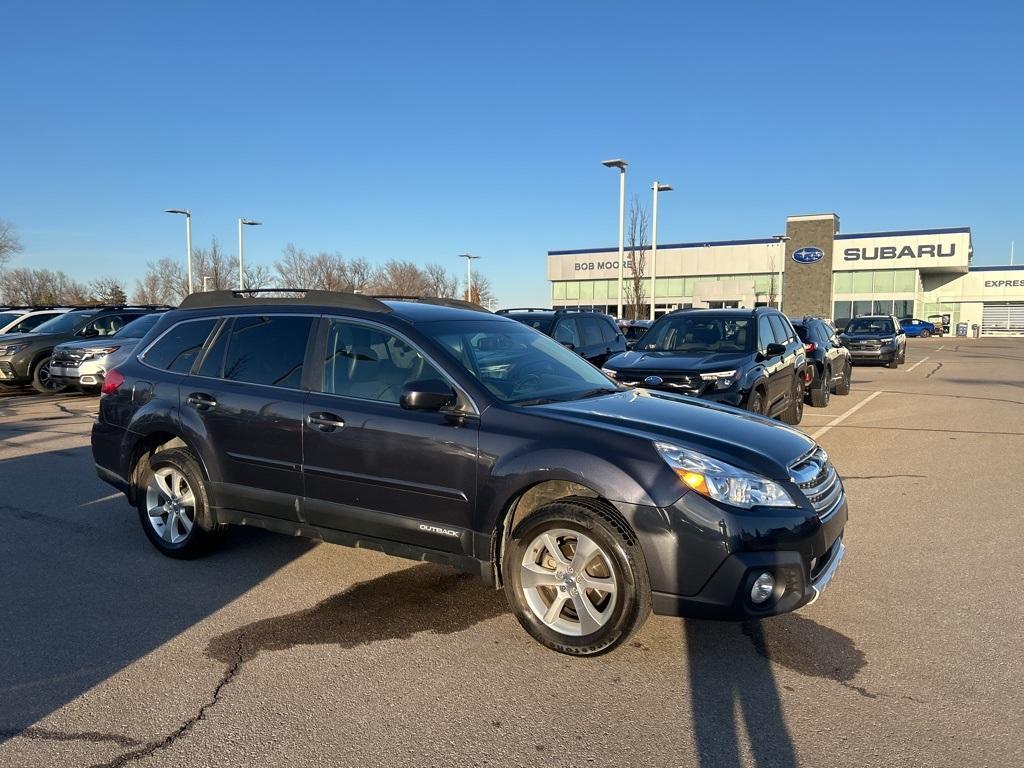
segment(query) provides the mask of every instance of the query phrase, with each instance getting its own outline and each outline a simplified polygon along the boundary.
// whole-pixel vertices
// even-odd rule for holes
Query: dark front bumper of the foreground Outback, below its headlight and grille
[[[811,509],[727,510],[695,493],[660,510],[664,534],[641,528],[653,610],[662,615],[744,621],[814,602],[846,554],[845,496],[824,517]],[[775,579],[771,598],[750,599],[755,580]]]

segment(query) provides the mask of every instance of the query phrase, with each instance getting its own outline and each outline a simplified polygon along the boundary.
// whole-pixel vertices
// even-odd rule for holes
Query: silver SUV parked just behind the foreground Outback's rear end
[[[50,356],[50,380],[70,389],[98,393],[106,372],[135,348],[160,319],[161,311],[129,321],[120,331],[101,340],[88,338],[57,344]]]

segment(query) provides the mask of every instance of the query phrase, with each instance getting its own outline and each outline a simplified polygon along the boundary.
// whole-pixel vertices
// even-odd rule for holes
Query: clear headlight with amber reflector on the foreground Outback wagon
[[[797,506],[785,488],[767,477],[671,442],[655,442],[654,447],[683,484],[709,499],[742,509]]]

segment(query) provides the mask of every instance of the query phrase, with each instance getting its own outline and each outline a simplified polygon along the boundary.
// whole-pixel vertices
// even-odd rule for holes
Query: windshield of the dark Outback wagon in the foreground
[[[419,329],[502,402],[537,406],[617,389],[578,354],[519,323],[444,321]]]

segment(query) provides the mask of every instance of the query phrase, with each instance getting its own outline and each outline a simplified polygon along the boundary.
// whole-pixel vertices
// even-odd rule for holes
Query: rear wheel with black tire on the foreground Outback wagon
[[[142,530],[150,543],[162,554],[182,560],[199,557],[214,549],[223,538],[226,526],[216,524],[210,515],[210,500],[206,493],[203,470],[191,453],[186,449],[169,449],[159,451],[148,459],[143,457],[141,461],[142,465],[137,472],[136,508]],[[190,527],[181,521],[182,514],[186,520],[189,518],[186,503],[182,503],[176,512],[169,511],[167,504],[163,504],[163,514],[150,514],[151,508],[157,509],[160,506],[161,499],[171,502],[168,484],[162,482],[165,472],[172,473],[172,477],[184,479],[185,485],[178,486],[179,494],[182,489],[191,492],[194,504],[190,507]],[[163,493],[160,494],[158,488]],[[154,499],[154,495],[160,498]],[[187,496],[181,494],[179,498],[187,499]],[[169,535],[162,531],[169,531]]]

